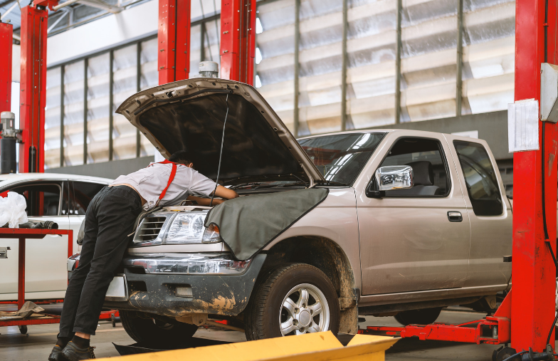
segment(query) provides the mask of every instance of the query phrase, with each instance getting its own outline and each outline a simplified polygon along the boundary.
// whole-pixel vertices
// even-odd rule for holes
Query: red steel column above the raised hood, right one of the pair
[[[221,78],[254,83],[256,0],[221,1]]]

